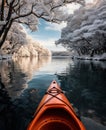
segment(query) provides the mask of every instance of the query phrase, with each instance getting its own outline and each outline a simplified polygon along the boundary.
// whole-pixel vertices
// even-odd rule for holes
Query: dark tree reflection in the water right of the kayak
[[[57,76],[78,114],[106,125],[106,66],[76,61],[67,73]]]

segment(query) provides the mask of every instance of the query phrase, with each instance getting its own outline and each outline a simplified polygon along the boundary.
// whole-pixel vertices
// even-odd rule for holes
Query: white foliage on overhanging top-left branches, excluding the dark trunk
[[[83,0],[77,0],[83,1]],[[29,25],[30,29],[35,30],[35,26],[38,24],[37,18],[44,18],[47,21],[59,21],[64,19],[65,14],[60,9],[65,3],[73,3],[72,0],[7,0],[7,5],[4,9],[4,15],[6,20],[9,12],[9,4],[12,5],[11,19],[17,22]],[[76,2],[76,0],[75,0]],[[28,14],[28,15],[27,15]],[[25,15],[25,16],[24,16]],[[32,15],[32,16],[31,16]]]

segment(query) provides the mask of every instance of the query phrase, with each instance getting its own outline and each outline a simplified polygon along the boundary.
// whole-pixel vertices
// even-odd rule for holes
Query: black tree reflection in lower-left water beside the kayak
[[[24,94],[12,100],[0,80],[0,130],[26,130],[41,97],[36,89]]]

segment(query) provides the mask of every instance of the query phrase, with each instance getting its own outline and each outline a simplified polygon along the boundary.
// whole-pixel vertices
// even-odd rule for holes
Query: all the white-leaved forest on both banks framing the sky
[[[73,14],[68,14],[64,7],[71,3],[80,6]],[[39,43],[34,41],[35,47],[30,42],[23,26],[36,31],[43,19],[58,24],[67,22],[56,44],[62,44],[74,57],[106,60],[106,0],[94,0],[90,4],[84,0],[2,0],[0,12],[1,54],[39,55],[36,49]],[[41,47],[40,52],[43,50],[40,55],[51,55]]]

